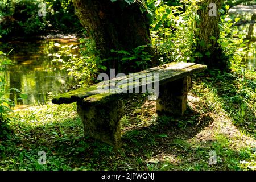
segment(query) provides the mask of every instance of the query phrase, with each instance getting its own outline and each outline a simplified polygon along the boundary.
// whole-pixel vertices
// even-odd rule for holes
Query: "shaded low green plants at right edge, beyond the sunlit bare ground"
[[[199,78],[200,77],[200,78]],[[255,90],[256,80],[246,78],[236,73],[221,73],[218,70],[208,70],[199,74],[196,80],[203,81],[211,90],[216,90],[221,99],[222,109],[239,130],[256,137],[255,131]]]

